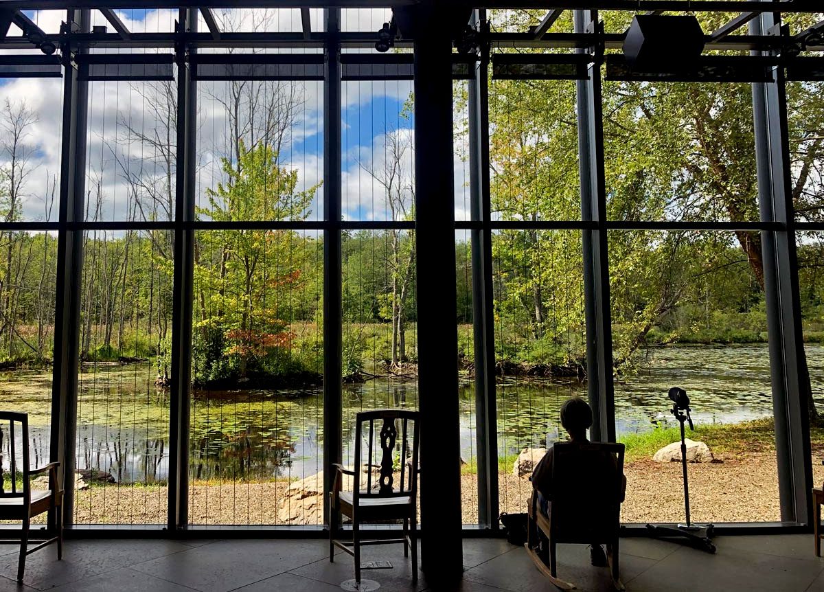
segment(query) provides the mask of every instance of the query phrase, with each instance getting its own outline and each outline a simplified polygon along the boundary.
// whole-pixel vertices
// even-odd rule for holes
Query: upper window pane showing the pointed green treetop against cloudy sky
[[[322,83],[204,81],[198,92],[198,218],[323,218]]]

